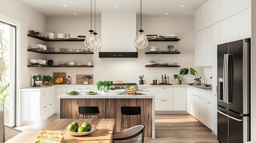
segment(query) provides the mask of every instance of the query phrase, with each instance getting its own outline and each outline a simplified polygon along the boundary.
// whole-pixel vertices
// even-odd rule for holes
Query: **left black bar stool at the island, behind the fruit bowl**
[[[83,115],[83,119],[85,118],[85,115],[98,115],[98,119],[100,119],[100,111],[98,110],[98,107],[78,107],[78,119],[80,114]]]

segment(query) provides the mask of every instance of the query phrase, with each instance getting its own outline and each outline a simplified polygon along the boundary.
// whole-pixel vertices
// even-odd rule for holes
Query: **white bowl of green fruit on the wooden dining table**
[[[71,136],[84,136],[84,135],[89,135],[94,130],[95,130],[94,128],[91,128],[90,123],[84,122],[79,127],[77,122],[73,122],[72,124],[67,126],[67,129],[65,130],[65,132]]]

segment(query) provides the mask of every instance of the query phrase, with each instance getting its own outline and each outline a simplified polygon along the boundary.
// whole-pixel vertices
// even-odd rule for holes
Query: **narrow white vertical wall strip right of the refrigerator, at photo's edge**
[[[256,1],[252,1],[252,38],[251,38],[251,140],[256,141]]]

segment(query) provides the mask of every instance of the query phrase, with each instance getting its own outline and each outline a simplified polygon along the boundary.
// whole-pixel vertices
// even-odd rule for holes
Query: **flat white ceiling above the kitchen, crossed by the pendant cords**
[[[18,0],[47,16],[90,15],[90,0]],[[192,16],[207,0],[143,0],[143,16]],[[92,0],[94,2],[94,0]],[[67,5],[64,7],[63,5]],[[118,7],[114,7],[118,5]],[[180,7],[184,5],[184,7]],[[96,0],[96,13],[140,12],[139,0]],[[165,13],[168,13],[166,15]]]

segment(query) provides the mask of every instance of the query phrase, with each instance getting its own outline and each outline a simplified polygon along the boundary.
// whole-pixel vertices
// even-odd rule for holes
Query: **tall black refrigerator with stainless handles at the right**
[[[250,141],[251,39],[218,45],[218,141]]]

